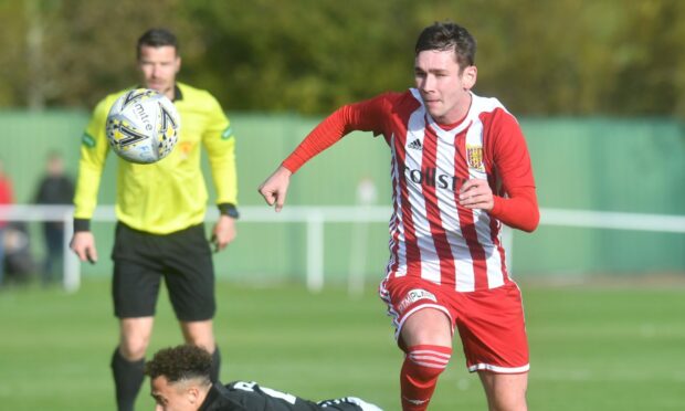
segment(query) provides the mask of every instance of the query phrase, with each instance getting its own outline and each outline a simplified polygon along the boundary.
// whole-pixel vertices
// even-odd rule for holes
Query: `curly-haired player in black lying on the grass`
[[[312,402],[260,387],[253,381],[226,386],[210,379],[211,356],[197,346],[165,348],[145,366],[150,394],[164,411],[381,411],[355,397]]]

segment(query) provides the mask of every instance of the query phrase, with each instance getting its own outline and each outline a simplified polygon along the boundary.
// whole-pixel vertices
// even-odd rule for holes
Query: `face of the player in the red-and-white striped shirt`
[[[453,50],[422,51],[414,61],[417,88],[426,110],[440,124],[453,124],[466,115],[476,74],[475,65],[460,71]]]

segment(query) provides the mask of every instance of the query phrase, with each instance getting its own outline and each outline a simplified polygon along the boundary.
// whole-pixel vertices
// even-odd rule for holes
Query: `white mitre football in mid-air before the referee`
[[[180,117],[164,94],[136,88],[117,98],[107,115],[112,149],[125,160],[151,164],[167,157],[178,141]]]

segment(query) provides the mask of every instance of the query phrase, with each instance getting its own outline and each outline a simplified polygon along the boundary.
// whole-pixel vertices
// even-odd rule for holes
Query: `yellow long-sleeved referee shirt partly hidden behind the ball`
[[[181,117],[179,139],[169,156],[151,165],[137,165],[117,156],[116,215],[126,225],[168,234],[200,224],[208,193],[200,166],[200,146],[208,152],[217,204],[236,205],[235,138],[219,102],[205,91],[176,84],[173,104]],[[81,146],[74,219],[89,220],[109,152],[105,135],[107,113],[127,91],[97,104]]]

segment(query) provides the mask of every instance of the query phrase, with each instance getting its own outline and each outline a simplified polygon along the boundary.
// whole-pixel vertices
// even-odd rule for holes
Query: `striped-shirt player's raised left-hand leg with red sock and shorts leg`
[[[425,410],[452,356],[452,313],[439,287],[420,278],[383,282],[380,296],[405,352],[400,371],[402,409]]]

